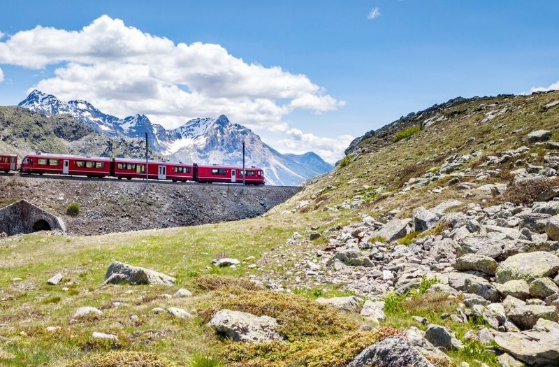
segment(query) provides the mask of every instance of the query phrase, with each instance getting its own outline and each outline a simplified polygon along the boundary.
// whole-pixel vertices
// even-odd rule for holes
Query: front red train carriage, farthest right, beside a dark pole
[[[242,168],[228,166],[200,166],[198,165],[196,180],[198,182],[227,182],[242,183]],[[266,182],[261,168],[245,168],[245,183],[248,185],[263,185]]]

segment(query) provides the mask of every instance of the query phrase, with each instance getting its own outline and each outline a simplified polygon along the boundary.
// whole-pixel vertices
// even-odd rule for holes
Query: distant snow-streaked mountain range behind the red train
[[[134,144],[147,133],[154,154],[170,161],[240,166],[242,142],[245,141],[246,165],[263,168],[270,185],[298,185],[333,168],[314,152],[281,154],[263,143],[252,130],[230,122],[225,115],[217,119],[197,118],[177,129],[167,130],[152,124],[145,115],[119,119],[102,113],[87,101],[64,102],[38,90],[31,92],[18,106],[42,115],[68,114],[100,136],[131,138]]]

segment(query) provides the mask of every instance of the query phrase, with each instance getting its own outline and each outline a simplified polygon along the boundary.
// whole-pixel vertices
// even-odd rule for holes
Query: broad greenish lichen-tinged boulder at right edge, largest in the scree
[[[544,251],[526,252],[503,261],[495,273],[495,280],[498,283],[514,279],[532,282],[536,278],[553,278],[558,270],[559,257]]]

